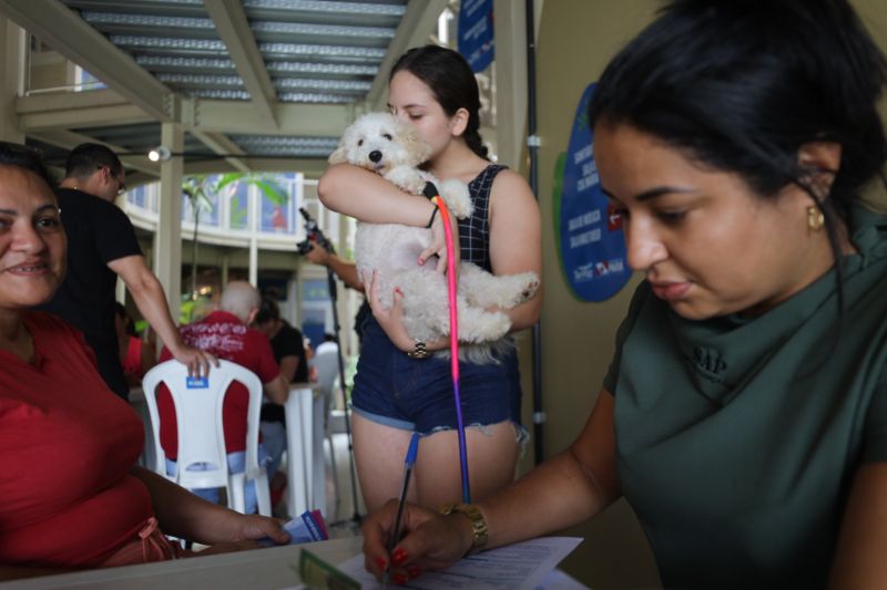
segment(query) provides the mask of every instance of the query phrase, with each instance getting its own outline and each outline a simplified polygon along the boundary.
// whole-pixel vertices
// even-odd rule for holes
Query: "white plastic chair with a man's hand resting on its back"
[[[228,507],[245,510],[245,486],[255,480],[258,513],[271,516],[268,474],[258,464],[258,414],[262,406],[262,382],[255,373],[220,360],[220,366],[210,370],[210,376],[198,386],[188,386],[187,366],[179,361],[166,361],[145,373],[142,387],[154,431],[156,464],[154,470],[186,488],[224,487]],[[230,473],[225,453],[225,431],[222,406],[225,392],[232,382],[242,383],[249,392],[246,417],[246,469]],[[160,415],[157,413],[157,385],[164,383],[172,394],[179,431],[179,468],[176,475],[166,475],[166,455],[160,443]],[[188,469],[201,464],[206,470]]]

